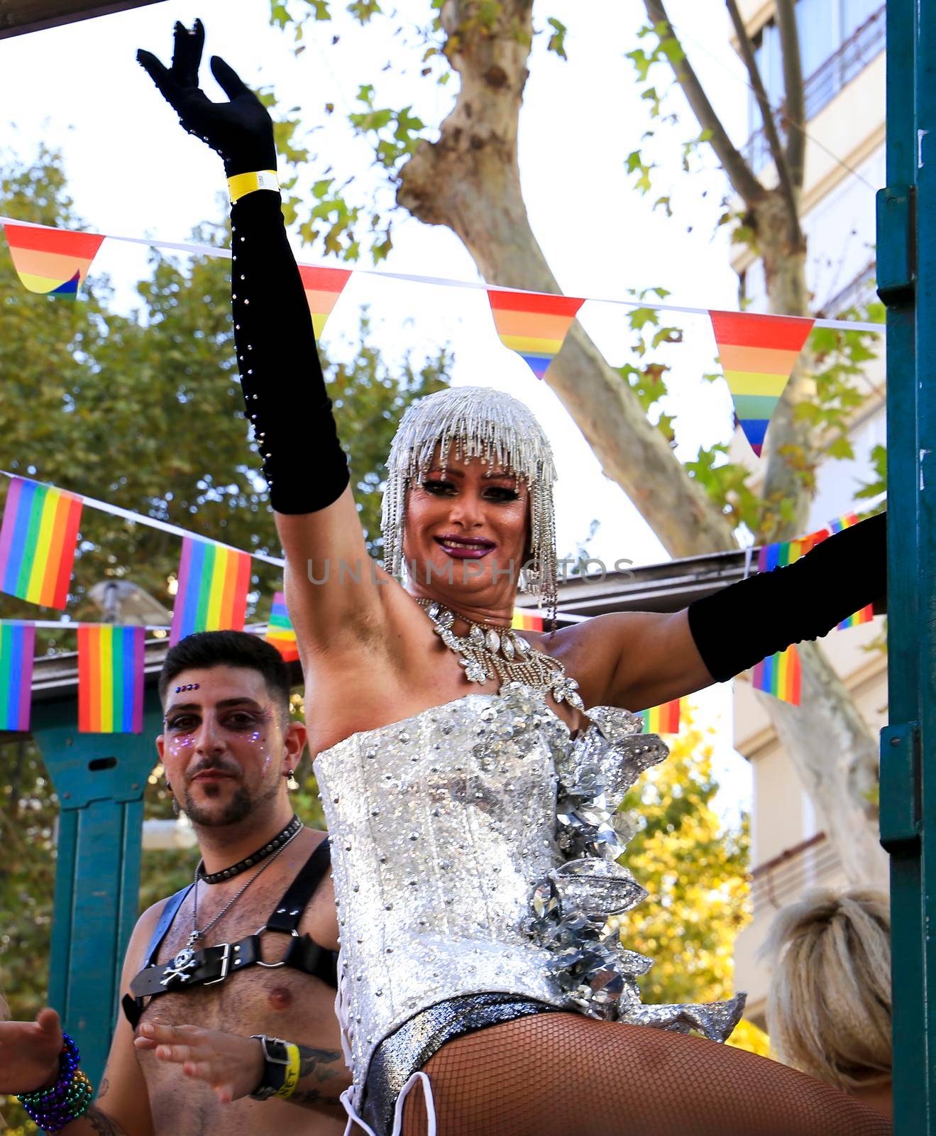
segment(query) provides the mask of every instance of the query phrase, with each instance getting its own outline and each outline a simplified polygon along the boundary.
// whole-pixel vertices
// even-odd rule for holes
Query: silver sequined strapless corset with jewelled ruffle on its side
[[[616,862],[629,835],[618,805],[668,751],[625,710],[588,716],[573,740],[541,694],[511,684],[318,755],[354,1095],[376,1045],[462,994],[718,1033],[693,1017],[704,1008],[642,1006],[651,960],[605,926],[645,895]]]

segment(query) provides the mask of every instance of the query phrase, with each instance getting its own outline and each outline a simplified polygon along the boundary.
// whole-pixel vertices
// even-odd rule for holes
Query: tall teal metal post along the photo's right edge
[[[880,832],[891,853],[894,1133],[936,1134],[936,10],[887,3],[889,718]]]

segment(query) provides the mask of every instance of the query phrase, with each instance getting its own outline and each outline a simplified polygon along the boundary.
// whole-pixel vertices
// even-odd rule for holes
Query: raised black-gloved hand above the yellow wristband
[[[136,61],[162,92],[185,130],[220,154],[228,177],[276,169],[273,120],[267,108],[224,59],[211,57],[211,74],[231,101],[212,102],[199,87],[203,47],[204,27],[200,19],[191,28],[176,20],[172,67],[164,67],[152,52],[143,50],[136,52]]]

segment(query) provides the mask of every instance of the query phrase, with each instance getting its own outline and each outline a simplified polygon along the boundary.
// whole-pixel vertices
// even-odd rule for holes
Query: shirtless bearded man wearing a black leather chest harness
[[[287,796],[306,727],[290,721],[285,663],[254,636],[206,632],[169,651],[159,688],[157,749],[203,869],[181,903],[162,900],[136,924],[95,1103],[61,1131],[337,1136],[350,1083],[334,1014],[337,922],[325,834],[302,827]],[[283,1084],[286,1067],[264,1052],[282,1059],[277,1038],[299,1046],[298,1084],[287,1100],[251,1100]],[[0,1021],[0,1092],[51,1086],[61,1050],[53,1010]]]

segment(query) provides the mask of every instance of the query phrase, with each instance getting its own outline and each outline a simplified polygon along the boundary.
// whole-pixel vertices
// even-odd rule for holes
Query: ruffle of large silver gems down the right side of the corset
[[[550,967],[584,1013],[610,1021],[699,1030],[724,1042],[741,1019],[745,995],[729,1002],[643,1005],[637,978],[653,960],[628,951],[610,916],[646,897],[624,855],[633,828],[618,812],[625,794],[669,750],[657,734],[643,734],[643,718],[615,707],[588,711],[592,725],[557,762],[557,843],[568,858],[533,892],[533,941],[550,952]]]

